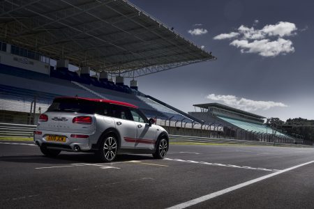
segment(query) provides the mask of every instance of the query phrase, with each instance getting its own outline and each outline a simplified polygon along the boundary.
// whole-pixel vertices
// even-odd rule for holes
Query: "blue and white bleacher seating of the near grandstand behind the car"
[[[147,98],[146,95],[140,93],[140,91],[131,89],[126,85],[116,85],[114,82],[110,82],[106,79],[98,81],[96,77],[89,75],[81,75],[80,77],[76,72],[71,72],[66,68],[58,70],[50,68],[49,76],[21,68],[10,66],[5,66],[5,68],[0,67],[0,83],[3,84],[3,89],[6,89],[7,96],[10,95],[10,98],[7,97],[5,99],[6,103],[8,104],[9,100],[11,100],[11,103],[17,100],[23,101],[21,102],[23,106],[22,109],[26,112],[29,111],[31,107],[34,95],[38,95],[38,104],[45,106],[45,108],[47,108],[52,102],[52,99],[57,96],[78,95],[85,98],[99,98],[97,94],[73,84],[72,81],[80,83],[91,91],[102,95],[103,98],[135,104],[142,109],[148,118],[159,118],[162,120],[171,118],[172,121],[184,121],[189,123],[193,121],[179,114],[177,111]],[[38,89],[38,86],[40,86],[40,89]],[[10,91],[11,93],[8,93]],[[45,111],[45,108],[43,111]]]

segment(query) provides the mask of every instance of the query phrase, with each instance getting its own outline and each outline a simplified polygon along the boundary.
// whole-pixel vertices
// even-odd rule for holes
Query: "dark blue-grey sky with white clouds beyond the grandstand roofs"
[[[218,58],[138,77],[143,93],[186,112],[218,102],[314,119],[314,1],[130,2]]]

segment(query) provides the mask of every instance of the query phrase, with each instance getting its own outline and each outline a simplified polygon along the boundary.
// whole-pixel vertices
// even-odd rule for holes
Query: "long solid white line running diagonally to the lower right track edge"
[[[307,165],[307,164],[311,164],[311,163],[313,163],[313,162],[314,162],[314,160],[313,160],[313,161],[310,161],[310,162],[306,162],[306,163],[304,163],[304,164],[296,165],[296,166],[294,166],[294,167],[290,167],[290,168],[288,168],[288,169],[284,169],[284,170],[282,170],[282,171],[278,171],[278,172],[276,172],[276,173],[271,173],[271,174],[268,174],[268,175],[266,175],[266,176],[262,176],[262,177],[260,177],[260,178],[255,178],[255,179],[253,179],[253,180],[248,180],[248,181],[246,181],[245,183],[241,183],[241,184],[235,185],[235,186],[233,186],[233,187],[228,187],[228,188],[222,189],[222,190],[220,190],[220,191],[218,191],[218,192],[214,192],[214,193],[211,193],[211,194],[207,194],[207,195],[204,195],[204,196],[200,196],[200,197],[197,198],[197,199],[193,199],[193,200],[190,200],[190,201],[186,201],[185,203],[180,203],[180,204],[178,204],[178,205],[176,205],[176,206],[172,206],[172,207],[167,208],[167,209],[179,209],[179,208],[187,208],[187,207],[190,207],[190,206],[194,206],[194,205],[196,205],[197,203],[202,203],[202,202],[207,201],[207,200],[209,200],[209,199],[213,199],[213,198],[216,197],[216,196],[220,196],[220,195],[226,194],[226,193],[228,193],[228,192],[232,192],[232,191],[234,191],[234,190],[236,190],[236,189],[240,189],[241,187],[246,187],[246,186],[251,185],[251,184],[253,184],[253,183],[257,183],[257,182],[259,182],[259,181],[261,181],[261,180],[264,180],[264,179],[267,179],[267,178],[271,178],[271,177],[273,177],[273,176],[277,176],[277,175],[279,175],[279,174],[281,174],[281,173],[285,173],[285,172],[287,172],[287,171],[291,171],[291,170],[293,170],[293,169],[297,169],[297,168],[299,168],[299,167],[303,167],[303,166],[305,166],[305,165]]]

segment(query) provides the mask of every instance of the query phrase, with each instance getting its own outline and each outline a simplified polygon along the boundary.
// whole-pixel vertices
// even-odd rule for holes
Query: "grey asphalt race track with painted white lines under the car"
[[[313,161],[314,148],[170,145],[166,160],[105,164],[0,141],[0,208],[314,208]]]

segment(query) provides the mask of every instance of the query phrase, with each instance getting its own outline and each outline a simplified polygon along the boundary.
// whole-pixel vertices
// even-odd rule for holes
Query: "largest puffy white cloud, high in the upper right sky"
[[[255,25],[258,20],[255,20]],[[262,29],[241,25],[237,31],[221,33],[214,40],[233,39],[230,45],[242,53],[255,53],[260,56],[278,56],[294,52],[293,43],[284,37],[297,34],[297,26],[292,22],[267,24]]]

